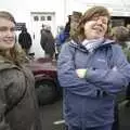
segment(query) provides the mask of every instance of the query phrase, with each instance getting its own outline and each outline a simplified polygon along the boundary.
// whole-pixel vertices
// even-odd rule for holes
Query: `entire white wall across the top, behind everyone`
[[[91,5],[105,5],[113,15],[130,16],[129,0],[2,0],[0,10],[10,11],[16,22],[26,22],[31,32],[30,12],[55,12],[56,26],[65,25],[73,11],[84,12]]]

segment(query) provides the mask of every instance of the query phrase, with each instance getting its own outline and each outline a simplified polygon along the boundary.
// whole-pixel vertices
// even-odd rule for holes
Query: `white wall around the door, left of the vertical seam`
[[[16,22],[26,23],[30,32],[30,12],[55,12],[56,26],[64,25],[64,0],[3,0],[0,10],[11,12]]]

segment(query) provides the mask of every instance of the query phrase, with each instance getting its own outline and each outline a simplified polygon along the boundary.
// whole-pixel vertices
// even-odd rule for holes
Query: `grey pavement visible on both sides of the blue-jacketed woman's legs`
[[[130,107],[126,107],[127,101],[119,103],[119,130],[130,130]],[[53,104],[40,107],[42,118],[42,130],[65,130],[62,115],[62,100]]]

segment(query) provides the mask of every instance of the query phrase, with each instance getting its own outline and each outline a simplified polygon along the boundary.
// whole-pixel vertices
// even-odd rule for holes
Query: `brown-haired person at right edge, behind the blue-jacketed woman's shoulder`
[[[127,46],[127,42],[129,40],[129,29],[126,28],[125,26],[113,27],[112,32],[110,32],[110,37],[112,37],[112,39],[114,39],[116,41],[116,43],[118,43],[122,48],[122,50],[123,50],[123,52],[127,56],[128,62],[130,62],[130,50]],[[127,91],[120,92],[120,94],[118,94],[118,96],[117,96],[117,100],[116,100],[116,103],[115,103],[116,104],[115,105],[115,121],[114,121],[114,125],[113,125],[113,130],[118,130],[119,129],[118,103],[121,102],[122,100],[125,100],[122,95],[125,95],[126,92],[127,93],[129,92],[129,86],[130,84],[128,84],[128,87],[127,87]]]

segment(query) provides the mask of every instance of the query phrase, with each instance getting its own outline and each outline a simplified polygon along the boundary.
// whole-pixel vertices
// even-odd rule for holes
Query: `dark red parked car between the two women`
[[[62,95],[56,75],[56,61],[46,57],[32,60],[29,67],[36,79],[36,94],[40,105],[53,103]]]

